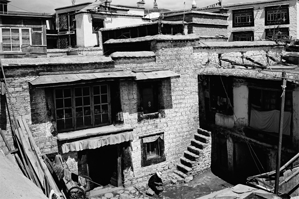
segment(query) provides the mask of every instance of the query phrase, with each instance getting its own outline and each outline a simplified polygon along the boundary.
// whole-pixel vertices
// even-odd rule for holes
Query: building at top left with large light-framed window
[[[0,1],[0,58],[46,57],[45,13],[7,10],[8,0]]]

